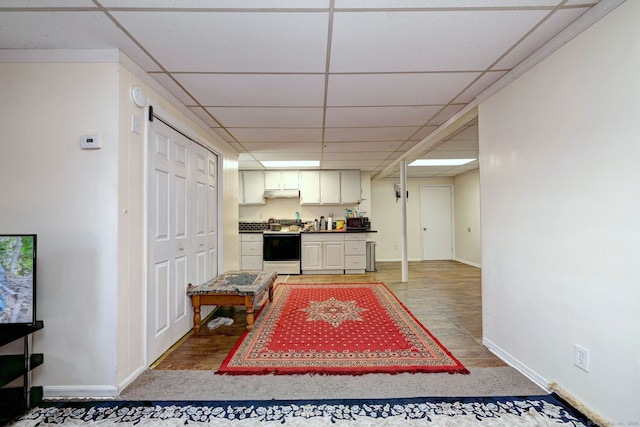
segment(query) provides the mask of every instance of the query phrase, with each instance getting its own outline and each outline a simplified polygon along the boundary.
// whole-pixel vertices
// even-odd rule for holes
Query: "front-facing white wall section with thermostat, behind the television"
[[[36,384],[116,382],[118,66],[0,63],[3,232],[38,234]],[[98,134],[100,150],[81,150]]]

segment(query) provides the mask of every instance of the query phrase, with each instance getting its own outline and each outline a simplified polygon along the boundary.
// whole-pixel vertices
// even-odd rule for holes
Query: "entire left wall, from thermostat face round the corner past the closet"
[[[45,362],[33,382],[48,396],[113,396],[146,366],[146,139],[131,133],[131,114],[146,121],[129,98],[132,85],[222,156],[219,253],[223,270],[238,268],[237,154],[128,66],[135,72],[117,55],[105,63],[0,62],[0,227],[38,234],[45,327],[34,347]],[[86,134],[99,134],[104,148],[81,150]]]

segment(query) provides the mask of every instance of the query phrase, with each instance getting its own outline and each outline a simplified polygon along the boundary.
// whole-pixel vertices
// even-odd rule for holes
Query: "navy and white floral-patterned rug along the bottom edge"
[[[12,427],[593,425],[556,395],[300,401],[45,402]]]

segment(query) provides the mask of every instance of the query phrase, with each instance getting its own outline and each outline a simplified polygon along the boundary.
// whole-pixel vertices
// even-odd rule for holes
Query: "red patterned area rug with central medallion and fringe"
[[[289,284],[217,374],[469,373],[384,283]]]

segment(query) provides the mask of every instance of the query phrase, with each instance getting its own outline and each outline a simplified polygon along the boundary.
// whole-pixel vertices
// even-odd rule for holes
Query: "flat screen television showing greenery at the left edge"
[[[0,329],[36,322],[35,234],[0,234]]]

